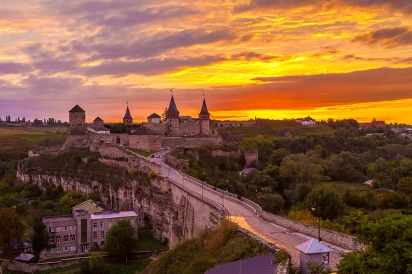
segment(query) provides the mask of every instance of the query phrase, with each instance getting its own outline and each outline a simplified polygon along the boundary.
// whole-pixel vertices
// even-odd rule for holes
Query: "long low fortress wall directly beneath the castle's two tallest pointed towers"
[[[222,145],[223,140],[220,136],[208,137],[163,137],[162,147],[200,147],[205,145]]]

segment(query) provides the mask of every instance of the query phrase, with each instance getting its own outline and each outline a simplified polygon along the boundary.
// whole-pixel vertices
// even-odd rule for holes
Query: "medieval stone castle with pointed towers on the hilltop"
[[[180,116],[174,97],[166,111],[164,123],[156,113],[148,116],[148,121],[141,125],[133,124],[133,117],[127,106],[123,123],[130,126],[130,134],[113,134],[104,127],[104,121],[97,117],[93,125],[87,125],[86,112],[76,105],[69,111],[69,129],[67,142],[63,150],[90,147],[92,142],[105,142],[126,145],[135,149],[159,151],[162,147],[196,147],[202,145],[220,145],[222,138],[213,136],[210,127],[210,114],[205,99],[198,119]]]

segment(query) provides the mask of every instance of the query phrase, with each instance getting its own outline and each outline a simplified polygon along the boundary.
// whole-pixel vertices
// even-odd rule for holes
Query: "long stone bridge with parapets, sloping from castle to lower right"
[[[163,151],[160,154],[163,158],[165,152]],[[161,161],[161,158],[155,158],[157,164],[161,165],[161,175],[168,177],[174,184],[180,184],[187,191],[198,193],[203,199],[218,203],[229,214],[231,221],[288,251],[294,264],[299,264],[299,251],[295,247],[311,238],[317,240],[318,230],[316,227],[258,210],[256,208],[258,205],[253,208],[247,203],[229,197],[229,194],[222,195],[222,190],[218,192],[216,191],[218,189],[207,188],[205,184],[197,179],[170,168]],[[358,245],[356,238],[353,236],[339,234],[328,229],[321,229],[321,236],[323,237],[323,245],[333,250],[330,253],[330,266],[333,269],[336,269],[336,264],[341,260],[341,253],[361,248],[361,245]]]

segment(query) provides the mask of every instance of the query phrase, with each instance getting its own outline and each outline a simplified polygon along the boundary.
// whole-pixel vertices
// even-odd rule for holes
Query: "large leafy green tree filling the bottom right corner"
[[[361,225],[365,250],[343,254],[339,274],[412,273],[412,215],[393,214]]]

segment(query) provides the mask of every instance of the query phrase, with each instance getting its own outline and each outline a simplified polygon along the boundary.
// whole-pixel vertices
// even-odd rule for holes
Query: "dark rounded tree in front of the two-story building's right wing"
[[[137,247],[137,230],[129,220],[120,220],[108,231],[104,249],[114,258],[127,258]]]

